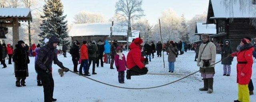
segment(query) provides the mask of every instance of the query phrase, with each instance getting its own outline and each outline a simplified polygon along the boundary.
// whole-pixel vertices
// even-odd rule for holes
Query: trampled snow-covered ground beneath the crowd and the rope
[[[69,54],[67,56],[67,58],[64,58],[61,55],[58,58],[65,67],[73,70],[71,57]],[[196,66],[194,56],[195,53],[193,51],[179,55],[175,63],[175,71],[172,75],[132,76],[131,80],[125,80],[125,84],[119,84],[116,69],[109,69],[110,64],[104,64],[104,67],[96,68],[97,75],[91,75],[90,78],[117,86],[132,88],[158,86],[197,71],[199,68]],[[167,57],[165,53],[166,68],[164,69],[162,57],[155,56],[152,62],[146,65],[149,69],[148,73],[168,73]],[[220,55],[217,55],[217,61],[219,60]],[[200,73],[160,88],[128,90],[106,86],[74,73],[66,73],[65,77],[60,77],[57,72],[59,67],[54,65],[54,98],[57,98],[58,102],[233,102],[233,100],[237,99],[235,65],[236,59],[234,59],[230,77],[222,76],[222,65],[216,65],[214,92],[212,94],[198,91],[198,88],[203,86]],[[254,64],[253,69],[255,68],[256,65]],[[43,87],[36,86],[34,58],[30,57],[29,77],[26,79],[27,86],[16,87],[13,72],[13,65],[8,65],[6,69],[0,69],[0,102],[43,102]],[[90,73],[92,73],[92,66],[90,67]],[[252,75],[252,80],[254,85],[256,85],[255,73]],[[250,96],[250,99],[251,102],[255,102],[255,95]]]

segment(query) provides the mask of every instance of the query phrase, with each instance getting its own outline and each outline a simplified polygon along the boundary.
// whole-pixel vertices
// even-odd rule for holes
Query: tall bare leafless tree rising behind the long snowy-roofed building
[[[116,14],[119,15],[119,19],[124,21],[127,29],[127,45],[128,37],[131,35],[131,22],[132,20],[138,20],[144,15],[144,10],[142,9],[142,0],[118,0],[116,2]]]

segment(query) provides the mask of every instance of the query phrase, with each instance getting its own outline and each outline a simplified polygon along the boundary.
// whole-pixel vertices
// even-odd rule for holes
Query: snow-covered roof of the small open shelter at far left
[[[7,17],[30,18],[32,20],[29,8],[0,8],[0,18]]]

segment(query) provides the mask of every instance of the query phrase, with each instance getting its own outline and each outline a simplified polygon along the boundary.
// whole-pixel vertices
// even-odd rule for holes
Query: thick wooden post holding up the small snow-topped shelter
[[[19,22],[18,18],[13,18],[12,22],[12,45],[15,49],[15,45],[18,43],[20,37],[19,37]]]

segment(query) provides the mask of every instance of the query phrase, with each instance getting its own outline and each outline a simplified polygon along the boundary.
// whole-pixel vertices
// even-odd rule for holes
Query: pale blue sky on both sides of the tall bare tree
[[[73,17],[82,10],[102,14],[106,20],[114,16],[115,4],[118,0],[62,0],[64,14],[67,14],[68,23],[73,22]],[[202,14],[208,9],[209,0],[143,0],[142,8],[144,17],[151,24],[156,24],[162,12],[173,9],[178,16],[185,14],[187,20],[196,14]]]

